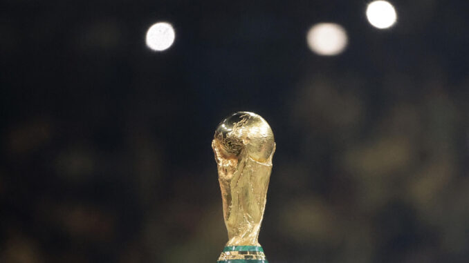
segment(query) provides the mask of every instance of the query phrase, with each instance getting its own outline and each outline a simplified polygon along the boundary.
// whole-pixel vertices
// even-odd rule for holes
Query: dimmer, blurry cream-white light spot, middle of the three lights
[[[336,23],[317,23],[306,36],[308,46],[318,55],[333,56],[344,51],[347,46],[347,33]]]

